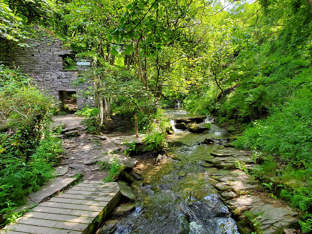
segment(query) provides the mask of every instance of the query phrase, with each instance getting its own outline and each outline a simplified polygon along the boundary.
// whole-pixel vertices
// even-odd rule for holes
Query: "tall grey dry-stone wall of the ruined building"
[[[36,29],[36,28],[35,28]],[[38,28],[37,28],[38,30]],[[89,69],[90,66],[77,65],[76,70],[64,70],[63,57],[71,55],[71,51],[61,48],[62,42],[52,36],[40,37],[37,40],[25,40],[23,43],[31,45],[30,47],[9,46],[7,58],[11,68],[17,67],[22,72],[37,82],[41,90],[53,95],[57,102],[60,101],[59,92],[74,91],[78,94],[77,107],[83,108],[86,104],[94,106],[93,97],[84,97],[82,90],[86,90],[90,84],[83,84],[73,87],[71,84],[80,76],[80,74]]]

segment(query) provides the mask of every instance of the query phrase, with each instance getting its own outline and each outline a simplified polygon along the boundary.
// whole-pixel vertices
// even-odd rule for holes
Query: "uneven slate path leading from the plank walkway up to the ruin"
[[[107,174],[103,171],[99,172],[100,167],[97,163],[111,163],[115,157],[120,165],[125,165],[126,170],[131,170],[136,165],[137,160],[121,154],[128,148],[123,143],[135,141],[143,144],[142,138],[135,139],[134,135],[122,132],[107,132],[101,135],[86,134],[84,126],[80,124],[83,119],[73,115],[53,117],[53,126],[63,127],[60,137],[63,141],[64,153],[60,165],[68,168],[63,178],[80,173],[90,180],[103,180]],[[75,134],[68,135],[71,132]]]

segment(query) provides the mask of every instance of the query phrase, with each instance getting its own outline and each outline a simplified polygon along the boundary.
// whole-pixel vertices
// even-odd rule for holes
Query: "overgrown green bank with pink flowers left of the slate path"
[[[24,202],[52,175],[61,140],[50,132],[53,100],[32,79],[0,65],[0,209]]]

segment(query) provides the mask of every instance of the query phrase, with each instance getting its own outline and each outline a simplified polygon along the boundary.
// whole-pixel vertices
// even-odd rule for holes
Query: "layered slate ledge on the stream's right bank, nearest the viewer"
[[[219,191],[221,200],[242,223],[249,222],[247,217],[248,220],[244,220],[244,212],[249,211],[258,217],[256,221],[259,222],[263,234],[281,233],[285,228],[298,225],[299,212],[284,201],[261,193],[261,185],[246,173],[234,170],[212,175],[216,180],[214,187]],[[243,229],[243,225],[239,224],[240,222],[238,227]],[[239,231],[243,233],[242,230]]]

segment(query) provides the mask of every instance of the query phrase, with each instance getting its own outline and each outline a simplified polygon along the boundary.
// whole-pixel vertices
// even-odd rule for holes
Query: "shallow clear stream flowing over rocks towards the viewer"
[[[172,119],[195,116],[177,109],[166,113]],[[212,121],[210,117],[204,120]],[[171,123],[174,128],[174,121]],[[141,160],[138,167],[144,179],[132,184],[139,193],[137,208],[119,218],[113,233],[238,234],[231,213],[211,185],[211,175],[217,169],[204,167],[204,160],[212,158],[210,153],[220,146],[198,144],[205,138],[222,140],[229,134],[214,124],[201,134],[174,130],[169,139],[179,139],[185,146],[169,148],[156,166],[151,159]]]

